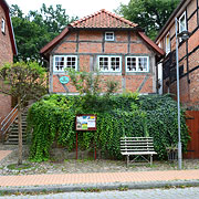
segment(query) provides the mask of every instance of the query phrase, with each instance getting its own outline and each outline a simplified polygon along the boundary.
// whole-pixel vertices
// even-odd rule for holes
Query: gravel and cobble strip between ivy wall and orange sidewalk
[[[0,150],[13,150],[7,158],[0,161],[0,175],[35,175],[35,174],[73,174],[73,172],[123,172],[123,171],[149,171],[178,169],[178,163],[154,161],[149,164],[130,165],[126,168],[124,160],[107,159],[64,159],[62,161],[30,163],[28,153],[24,153],[23,163],[31,164],[31,168],[22,170],[8,169],[8,165],[18,163],[18,146],[0,145]],[[24,151],[28,151],[24,146]],[[184,159],[184,169],[199,169],[199,159]]]

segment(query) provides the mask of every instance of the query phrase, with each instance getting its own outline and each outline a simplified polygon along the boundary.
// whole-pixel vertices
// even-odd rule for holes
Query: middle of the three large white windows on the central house
[[[122,71],[122,57],[121,56],[98,56],[98,70],[101,72],[121,72]]]

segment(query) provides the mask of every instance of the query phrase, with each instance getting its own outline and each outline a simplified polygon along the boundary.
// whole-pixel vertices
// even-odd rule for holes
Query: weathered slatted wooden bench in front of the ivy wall
[[[153,165],[153,155],[156,155],[157,153],[154,150],[153,137],[122,137],[121,154],[126,156],[126,166],[128,167],[129,161],[135,163],[139,156]],[[136,157],[133,160],[129,160],[129,156]],[[150,158],[147,159],[145,156]]]

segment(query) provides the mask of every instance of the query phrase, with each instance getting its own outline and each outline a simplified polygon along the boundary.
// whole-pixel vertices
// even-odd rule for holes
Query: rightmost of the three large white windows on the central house
[[[149,57],[126,56],[126,72],[149,72]]]

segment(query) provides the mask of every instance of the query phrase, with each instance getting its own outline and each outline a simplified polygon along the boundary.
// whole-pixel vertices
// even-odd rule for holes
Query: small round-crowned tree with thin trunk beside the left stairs
[[[21,112],[25,101],[39,98],[46,91],[46,74],[36,62],[4,64],[0,69],[0,93],[18,98],[19,158],[22,164],[22,119]]]

